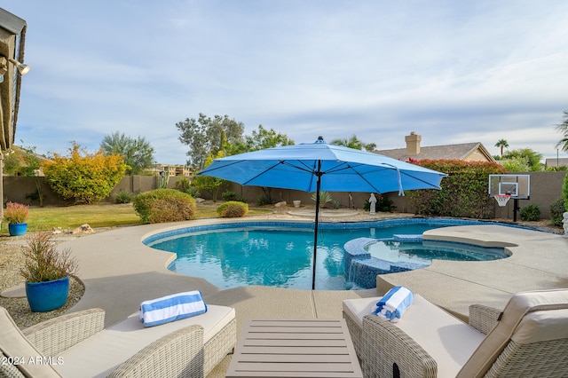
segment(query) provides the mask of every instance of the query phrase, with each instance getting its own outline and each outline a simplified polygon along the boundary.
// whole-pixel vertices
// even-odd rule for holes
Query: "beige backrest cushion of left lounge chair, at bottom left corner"
[[[20,332],[20,328],[4,307],[0,307],[0,350],[6,357],[19,358],[20,364],[17,367],[25,376],[59,377],[47,363],[47,359],[43,360],[42,353]]]

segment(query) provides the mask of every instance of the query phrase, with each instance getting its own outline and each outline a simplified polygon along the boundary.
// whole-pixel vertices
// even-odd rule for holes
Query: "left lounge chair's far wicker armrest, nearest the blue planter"
[[[54,357],[97,334],[104,326],[105,311],[90,309],[45,320],[22,330],[22,333],[43,356]]]

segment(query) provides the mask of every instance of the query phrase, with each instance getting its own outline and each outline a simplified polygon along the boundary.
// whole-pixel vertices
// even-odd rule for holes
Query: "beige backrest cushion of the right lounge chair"
[[[468,378],[483,376],[509,343],[509,339],[515,334],[517,326],[527,313],[567,308],[568,289],[537,290],[513,295],[503,310],[501,320],[487,334],[484,342],[463,366],[459,376]],[[528,327],[528,323],[525,327]]]

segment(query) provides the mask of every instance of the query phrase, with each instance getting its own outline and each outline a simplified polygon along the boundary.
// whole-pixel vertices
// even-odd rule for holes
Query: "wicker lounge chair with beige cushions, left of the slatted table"
[[[105,311],[50,319],[23,331],[0,307],[0,376],[191,376],[209,374],[236,344],[234,309],[145,328],[138,312],[103,329]]]

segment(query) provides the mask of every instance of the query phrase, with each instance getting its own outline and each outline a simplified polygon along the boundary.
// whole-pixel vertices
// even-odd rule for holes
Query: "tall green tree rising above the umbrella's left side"
[[[187,118],[176,123],[177,130],[181,132],[179,141],[189,146],[187,163],[196,169],[203,169],[205,159],[209,154],[217,156],[221,149],[222,131],[225,130],[227,143],[243,142],[244,125],[229,119],[228,115],[215,115],[213,118],[199,114],[199,118]]]

